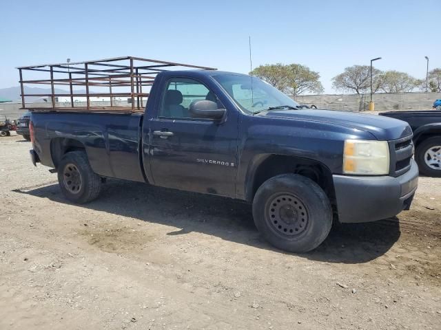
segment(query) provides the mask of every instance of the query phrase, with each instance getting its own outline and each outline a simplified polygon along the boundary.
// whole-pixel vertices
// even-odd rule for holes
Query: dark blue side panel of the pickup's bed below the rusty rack
[[[57,160],[50,157],[54,154],[51,148],[63,151],[63,144],[74,137],[85,148],[96,174],[144,182],[139,157],[142,119],[139,113],[34,112],[34,130],[43,137],[37,148],[46,157],[40,161],[56,167]]]

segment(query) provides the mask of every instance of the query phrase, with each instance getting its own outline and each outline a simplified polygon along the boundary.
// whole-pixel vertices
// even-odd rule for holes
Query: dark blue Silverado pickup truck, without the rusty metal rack
[[[70,201],[96,199],[107,177],[240,199],[289,252],[316,248],[333,220],[408,210],[418,185],[406,122],[300,109],[245,74],[161,71],[145,113],[30,110],[32,162]]]

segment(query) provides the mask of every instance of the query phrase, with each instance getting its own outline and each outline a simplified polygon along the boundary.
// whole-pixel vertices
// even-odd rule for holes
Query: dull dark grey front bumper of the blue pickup
[[[418,187],[418,165],[399,177],[333,175],[338,219],[342,223],[369,222],[409,210]]]

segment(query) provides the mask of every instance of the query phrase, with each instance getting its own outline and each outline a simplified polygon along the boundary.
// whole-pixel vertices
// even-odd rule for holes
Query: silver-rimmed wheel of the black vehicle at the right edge
[[[436,148],[436,146],[441,147],[441,136],[429,137],[427,140],[421,142],[416,148],[415,159],[418,168],[420,169],[420,173],[427,175],[428,177],[441,177],[441,148]],[[426,155],[426,153],[432,148],[436,151],[436,155],[433,159],[429,155]],[[435,164],[430,166],[427,162]],[[438,164],[438,169],[436,164]]]

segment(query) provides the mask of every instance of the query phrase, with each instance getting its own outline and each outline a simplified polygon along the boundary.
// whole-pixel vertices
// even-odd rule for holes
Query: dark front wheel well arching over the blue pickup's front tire
[[[267,179],[286,173],[302,175],[316,182],[325,191],[334,213],[336,213],[336,193],[331,170],[320,162],[302,157],[286,155],[271,155],[267,157],[254,171],[254,176],[250,181],[252,184],[247,189],[247,199],[252,201],[258,188]]]

